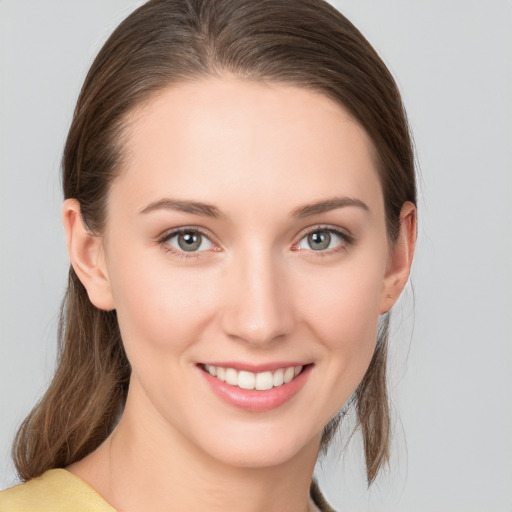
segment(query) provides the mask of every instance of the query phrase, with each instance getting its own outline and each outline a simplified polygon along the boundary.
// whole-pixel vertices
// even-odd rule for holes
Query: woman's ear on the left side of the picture
[[[105,264],[102,239],[85,226],[76,199],[66,199],[62,207],[69,258],[87,290],[89,300],[99,309],[115,309]]]

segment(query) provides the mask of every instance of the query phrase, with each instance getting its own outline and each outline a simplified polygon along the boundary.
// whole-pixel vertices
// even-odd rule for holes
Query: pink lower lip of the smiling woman
[[[305,366],[302,372],[287,384],[265,391],[231,386],[216,377],[212,377],[202,368],[198,367],[198,369],[211,390],[227,404],[250,412],[264,412],[280,407],[295,396],[306,383],[312,367],[312,364]]]

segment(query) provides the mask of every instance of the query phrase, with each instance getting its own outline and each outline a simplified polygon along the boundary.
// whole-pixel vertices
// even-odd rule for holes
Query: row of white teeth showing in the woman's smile
[[[309,365],[306,365],[309,366]],[[255,389],[267,391],[269,389],[288,384],[299,375],[306,366],[288,366],[274,371],[248,372],[225,368],[223,366],[201,365],[202,369],[226,384],[240,389]]]

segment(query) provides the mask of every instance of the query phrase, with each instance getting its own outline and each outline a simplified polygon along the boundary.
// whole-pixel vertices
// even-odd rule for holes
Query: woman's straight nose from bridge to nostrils
[[[222,329],[229,337],[267,346],[293,331],[293,297],[285,267],[270,252],[253,250],[233,258],[222,310]]]

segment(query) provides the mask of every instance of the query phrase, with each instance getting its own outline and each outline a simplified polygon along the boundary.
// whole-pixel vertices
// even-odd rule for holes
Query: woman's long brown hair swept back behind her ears
[[[92,234],[105,223],[109,187],[123,167],[127,117],[165,87],[231,73],[320,92],[342,105],[375,146],[390,243],[404,202],[416,204],[414,156],[398,88],[361,33],[323,0],[150,0],[107,40],[80,92],[63,155],[65,198]],[[388,318],[352,398],[368,482],[389,458]],[[65,467],[113,430],[130,365],[115,311],[94,307],[73,268],[50,387],[21,425],[13,458],[22,480]],[[339,423],[326,427],[322,447]]]

